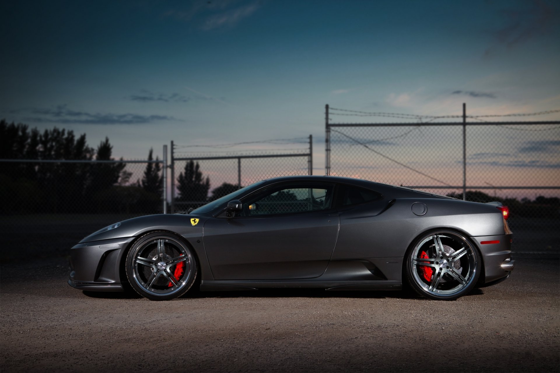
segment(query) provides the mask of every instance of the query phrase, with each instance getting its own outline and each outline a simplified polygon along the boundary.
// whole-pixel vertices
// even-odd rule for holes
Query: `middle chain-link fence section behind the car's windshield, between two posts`
[[[259,149],[262,144],[283,148]],[[239,146],[251,149],[236,150]],[[230,150],[220,150],[225,148]],[[171,149],[172,212],[195,209],[266,178],[312,173],[311,135],[221,145],[171,143]]]

